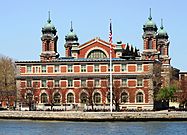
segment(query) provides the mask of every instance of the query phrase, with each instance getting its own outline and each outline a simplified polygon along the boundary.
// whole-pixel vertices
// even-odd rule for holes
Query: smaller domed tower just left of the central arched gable
[[[64,45],[66,49],[66,57],[78,57],[78,37],[73,32],[73,26],[71,22],[70,32],[65,36],[66,43]]]

